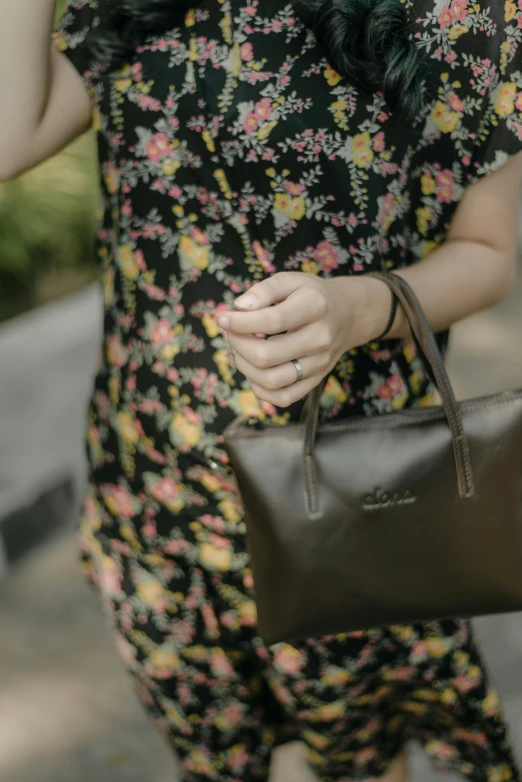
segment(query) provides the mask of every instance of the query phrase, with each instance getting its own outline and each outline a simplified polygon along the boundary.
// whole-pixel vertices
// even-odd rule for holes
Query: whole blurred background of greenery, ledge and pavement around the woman
[[[0,185],[0,780],[175,782],[76,561],[83,429],[101,339],[94,140]],[[521,218],[522,226],[522,218]],[[522,241],[521,241],[522,249]],[[522,385],[522,275],[459,324],[460,398]],[[522,760],[522,617],[476,622]],[[413,751],[414,782],[432,782]],[[312,782],[298,745],[274,782]]]

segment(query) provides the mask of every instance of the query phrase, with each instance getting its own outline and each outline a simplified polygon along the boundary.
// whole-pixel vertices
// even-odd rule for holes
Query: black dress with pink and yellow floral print
[[[112,79],[86,54],[95,0],[72,0],[56,34],[102,174],[85,564],[192,782],[266,781],[295,738],[322,782],[379,776],[410,739],[470,779],[518,779],[467,622],[263,646],[223,450],[239,414],[284,424],[301,407],[258,401],[235,371],[217,325],[233,299],[279,270],[422,261],[465,188],[522,148],[522,2],[403,1],[428,65],[411,126],[336,73],[286,0],[202,0]],[[411,342],[376,342],[343,356],[323,415],[432,390]]]

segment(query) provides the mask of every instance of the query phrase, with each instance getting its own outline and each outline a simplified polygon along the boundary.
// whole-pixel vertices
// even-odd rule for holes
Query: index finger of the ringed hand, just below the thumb
[[[236,334],[282,334],[315,323],[325,314],[326,299],[321,289],[307,283],[274,306],[252,312],[227,312],[219,319],[219,325]]]

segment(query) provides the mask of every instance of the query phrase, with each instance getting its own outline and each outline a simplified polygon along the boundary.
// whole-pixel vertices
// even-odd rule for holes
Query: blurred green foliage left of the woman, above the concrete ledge
[[[94,279],[97,202],[92,133],[0,184],[0,320]]]

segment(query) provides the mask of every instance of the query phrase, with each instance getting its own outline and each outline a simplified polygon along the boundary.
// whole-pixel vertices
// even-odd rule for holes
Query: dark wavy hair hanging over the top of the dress
[[[144,39],[179,24],[193,0],[100,0],[93,51],[106,71],[130,61]],[[382,92],[390,109],[413,120],[423,107],[423,67],[400,0],[294,0],[333,67],[359,88]]]

